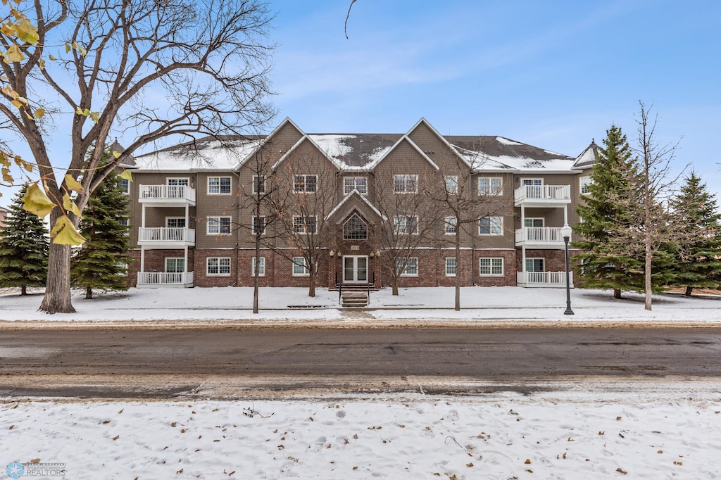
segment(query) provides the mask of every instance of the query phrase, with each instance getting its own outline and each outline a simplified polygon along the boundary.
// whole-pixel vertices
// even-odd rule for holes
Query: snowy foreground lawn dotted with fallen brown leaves
[[[721,397],[422,394],[0,403],[9,463],[70,479],[713,479]]]

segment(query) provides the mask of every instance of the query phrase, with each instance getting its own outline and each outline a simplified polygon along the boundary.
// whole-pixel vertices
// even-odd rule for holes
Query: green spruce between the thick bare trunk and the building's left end
[[[105,162],[110,151],[105,149]],[[128,256],[128,195],[121,190],[120,177],[113,171],[93,192],[83,211],[79,231],[87,241],[73,255],[71,281],[92,298],[93,289],[128,290],[125,279]]]

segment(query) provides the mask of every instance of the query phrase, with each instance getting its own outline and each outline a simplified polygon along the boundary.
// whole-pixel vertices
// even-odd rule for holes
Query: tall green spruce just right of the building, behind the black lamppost
[[[581,251],[574,259],[581,264],[578,273],[583,285],[613,288],[614,298],[621,298],[622,290],[643,291],[643,257],[628,256],[609,242],[609,232],[630,221],[621,203],[636,192],[632,178],[638,174],[626,135],[611,125],[603,148],[598,148],[589,194],[583,195],[576,208],[583,221],[574,227],[580,239],[573,246]]]

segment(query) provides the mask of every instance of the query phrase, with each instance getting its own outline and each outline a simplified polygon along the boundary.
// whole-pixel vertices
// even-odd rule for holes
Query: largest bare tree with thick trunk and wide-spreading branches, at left
[[[81,183],[75,203],[82,211],[107,174],[149,142],[252,130],[273,116],[265,102],[273,50],[265,36],[272,16],[263,0],[32,5],[27,14],[40,41],[22,46],[23,63],[0,63],[7,84],[27,105],[15,108],[3,95],[0,115],[4,127],[27,143],[45,192],[58,205],[51,226],[64,215],[62,197],[69,192],[68,177],[58,176],[58,169],[67,166],[69,177]],[[0,42],[9,45],[2,34]],[[66,135],[67,155],[50,153],[53,128]],[[107,166],[99,164],[102,148],[88,155],[112,133],[128,130],[133,141]],[[76,226],[78,218],[70,218]],[[69,259],[69,246],[50,246],[43,311],[74,311]]]

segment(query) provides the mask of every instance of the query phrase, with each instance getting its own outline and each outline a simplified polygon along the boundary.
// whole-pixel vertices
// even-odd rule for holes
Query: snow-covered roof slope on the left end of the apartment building
[[[262,138],[200,138],[136,157],[138,169],[157,171],[233,170]]]

